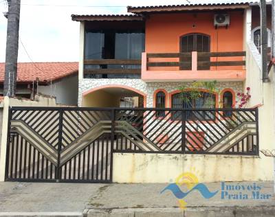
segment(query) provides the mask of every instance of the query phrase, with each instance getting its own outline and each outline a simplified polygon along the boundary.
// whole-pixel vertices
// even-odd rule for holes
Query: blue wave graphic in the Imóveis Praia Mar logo
[[[215,196],[217,194],[217,192],[219,192],[219,191],[210,192],[208,190],[208,187],[206,187],[206,185],[204,185],[203,183],[199,183],[199,184],[195,185],[188,192],[182,192],[181,189],[179,188],[179,185],[177,185],[176,183],[171,183],[170,185],[165,187],[164,190],[162,190],[162,192],[160,192],[160,193],[162,194],[166,190],[170,190],[171,192],[173,192],[175,197],[178,199],[182,199],[182,198],[186,197],[193,190],[198,190],[201,193],[201,195],[207,199],[212,198],[213,196]]]

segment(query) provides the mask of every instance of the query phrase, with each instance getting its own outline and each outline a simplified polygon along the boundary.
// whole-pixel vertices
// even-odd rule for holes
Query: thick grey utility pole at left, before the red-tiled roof
[[[20,20],[20,1],[8,0],[8,27],[5,47],[4,95],[14,96],[17,88],[17,58]]]

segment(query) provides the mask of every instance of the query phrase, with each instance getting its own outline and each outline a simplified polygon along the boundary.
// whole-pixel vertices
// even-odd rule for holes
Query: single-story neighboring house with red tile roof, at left
[[[0,63],[0,95],[3,95],[5,63]],[[58,104],[77,104],[78,62],[19,62],[17,93],[33,99],[37,93],[56,98]]]

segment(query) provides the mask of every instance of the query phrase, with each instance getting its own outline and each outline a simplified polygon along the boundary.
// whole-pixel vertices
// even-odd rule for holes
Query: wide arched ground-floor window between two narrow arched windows
[[[214,109],[216,97],[212,93],[199,92],[199,98],[193,98],[192,93],[175,93],[172,95],[172,108],[175,109]],[[181,113],[173,114],[173,119],[181,119]],[[214,119],[213,111],[186,111],[186,119]]]

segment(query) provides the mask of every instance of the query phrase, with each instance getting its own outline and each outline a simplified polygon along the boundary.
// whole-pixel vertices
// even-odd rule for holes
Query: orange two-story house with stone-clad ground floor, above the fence
[[[248,30],[245,12],[251,9]],[[195,80],[217,80],[215,106],[224,98],[225,106],[235,104],[248,73],[246,31],[260,49],[259,6],[166,5],[128,12],[72,15],[80,21],[78,106],[115,107],[134,98],[140,107],[178,108],[182,82],[188,87]]]

